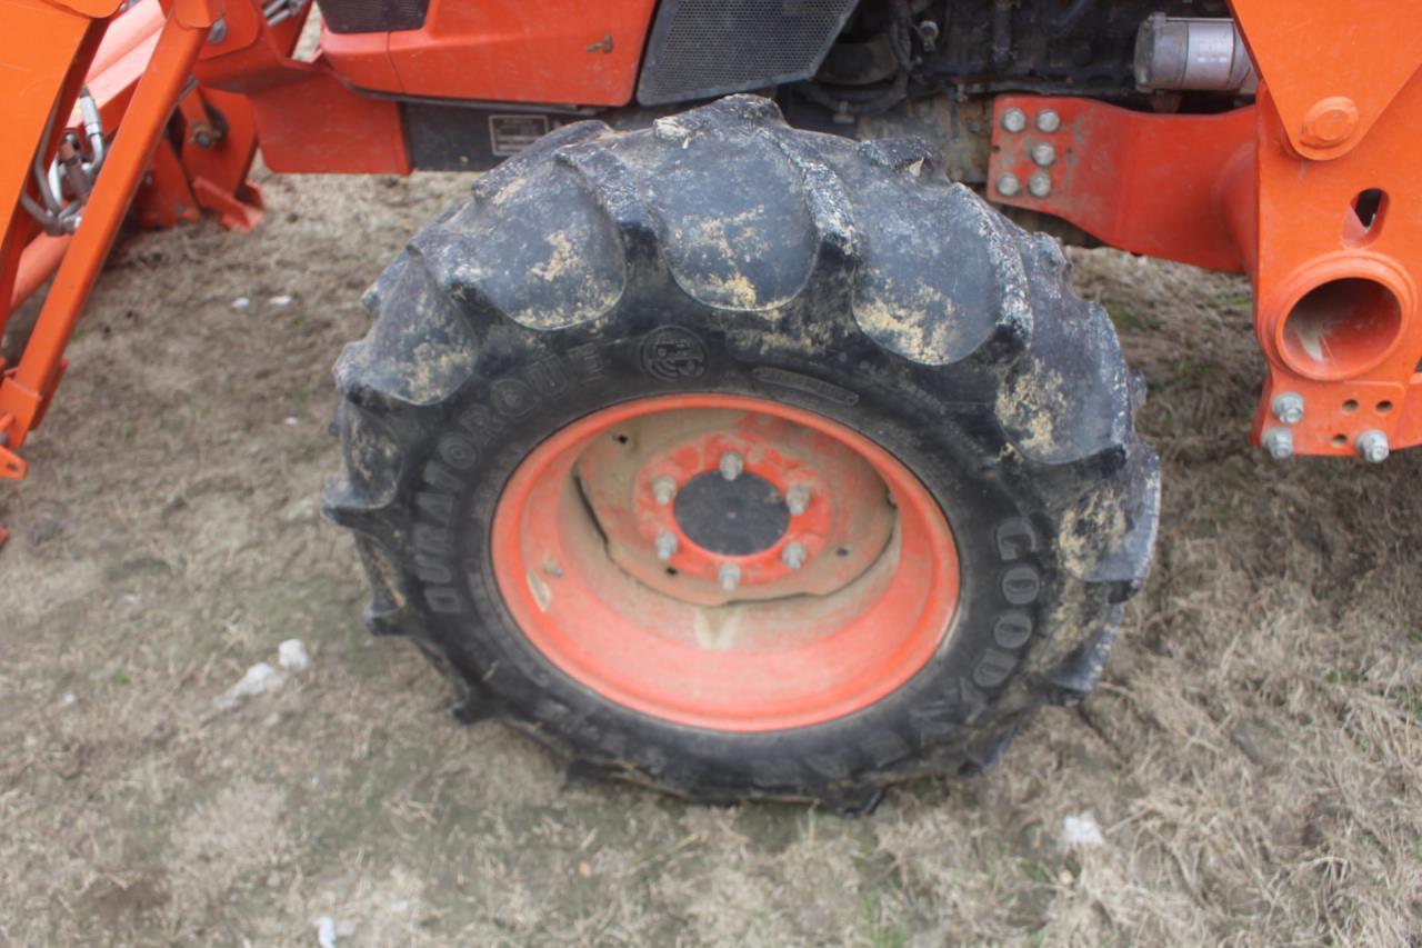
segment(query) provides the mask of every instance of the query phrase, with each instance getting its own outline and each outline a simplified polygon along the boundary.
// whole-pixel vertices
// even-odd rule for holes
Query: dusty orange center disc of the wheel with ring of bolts
[[[829,595],[893,532],[872,465],[762,413],[641,416],[593,443],[577,473],[613,561],[697,605]]]

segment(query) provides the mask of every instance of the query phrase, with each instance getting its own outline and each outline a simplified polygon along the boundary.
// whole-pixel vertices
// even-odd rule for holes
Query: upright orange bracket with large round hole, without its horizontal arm
[[[1270,370],[1256,437],[1277,424],[1273,397],[1293,391],[1305,403],[1290,426],[1298,453],[1354,454],[1364,431],[1384,433],[1391,447],[1422,443],[1418,121],[1422,74],[1345,155],[1304,161],[1271,90],[1261,90],[1253,279]],[[1369,192],[1378,206],[1364,226],[1355,205]]]

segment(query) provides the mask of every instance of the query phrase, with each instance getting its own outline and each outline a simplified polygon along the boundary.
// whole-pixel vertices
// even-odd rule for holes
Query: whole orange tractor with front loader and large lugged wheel
[[[1273,458],[1422,440],[1413,4],[316,6],[4,0],[0,475],[125,222],[259,226],[259,151],[471,172],[364,296],[323,510],[570,777],[862,813],[1092,690],[1160,478],[1064,242],[1249,276]]]

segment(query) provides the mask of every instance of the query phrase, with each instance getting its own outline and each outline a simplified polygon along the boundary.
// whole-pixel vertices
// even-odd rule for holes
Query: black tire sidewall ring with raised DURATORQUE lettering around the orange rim
[[[1065,576],[1051,567],[1051,524],[1000,464],[987,406],[946,401],[907,366],[848,330],[828,343],[739,340],[761,317],[731,310],[599,320],[559,332],[492,330],[468,383],[408,446],[414,475],[410,601],[462,678],[515,722],[579,757],[643,771],[671,789],[728,796],[833,784],[910,766],[927,747],[966,746],[1001,729],[994,699],[1047,635]],[[626,310],[624,310],[626,312]],[[899,370],[902,369],[902,370]],[[897,457],[929,490],[957,544],[951,626],[907,683],[853,715],[793,730],[687,727],[614,705],[566,676],[518,629],[491,562],[499,495],[520,461],[567,424],[633,399],[734,393],[806,409]],[[963,420],[967,418],[968,423]]]

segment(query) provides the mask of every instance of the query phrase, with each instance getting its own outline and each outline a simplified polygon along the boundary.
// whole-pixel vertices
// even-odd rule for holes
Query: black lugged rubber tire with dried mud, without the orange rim
[[[367,295],[336,380],[380,635],[572,762],[707,801],[873,804],[994,763],[1024,716],[1095,685],[1155,538],[1158,464],[1106,315],[1059,246],[950,184],[917,141],[788,128],[737,95],[613,132],[567,125],[485,175]],[[501,490],[590,411],[677,391],[795,406],[897,457],[951,525],[951,633],[907,683],[791,730],[687,727],[533,648],[489,564]]]

